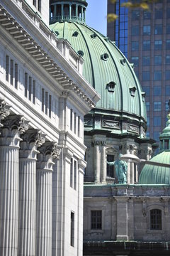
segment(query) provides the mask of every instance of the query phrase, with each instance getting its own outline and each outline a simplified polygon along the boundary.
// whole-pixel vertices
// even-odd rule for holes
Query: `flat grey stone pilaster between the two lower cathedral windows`
[[[117,240],[128,240],[128,198],[115,196],[117,201]]]

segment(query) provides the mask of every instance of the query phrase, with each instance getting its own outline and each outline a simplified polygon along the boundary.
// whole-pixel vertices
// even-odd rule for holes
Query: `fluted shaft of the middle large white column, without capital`
[[[35,256],[36,161],[20,159],[18,256]]]

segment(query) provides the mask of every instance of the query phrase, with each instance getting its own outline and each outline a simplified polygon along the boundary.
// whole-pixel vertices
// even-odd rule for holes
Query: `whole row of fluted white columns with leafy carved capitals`
[[[52,255],[55,142],[0,100],[0,255]]]

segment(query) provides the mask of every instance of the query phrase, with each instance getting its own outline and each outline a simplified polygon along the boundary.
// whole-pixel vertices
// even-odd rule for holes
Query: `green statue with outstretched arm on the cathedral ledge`
[[[115,160],[113,162],[107,161],[107,164],[110,166],[115,166],[115,174],[118,178],[118,183],[126,184],[127,183],[128,164],[126,161],[123,161],[120,159],[121,156],[123,156],[123,154],[119,154],[118,160]]]

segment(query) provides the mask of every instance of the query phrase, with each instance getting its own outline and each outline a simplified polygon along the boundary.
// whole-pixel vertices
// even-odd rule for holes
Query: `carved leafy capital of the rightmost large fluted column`
[[[39,149],[38,154],[38,169],[44,171],[53,171],[52,166],[55,164],[54,159],[59,159],[61,149],[57,147],[55,142],[45,142]]]

